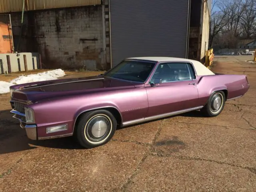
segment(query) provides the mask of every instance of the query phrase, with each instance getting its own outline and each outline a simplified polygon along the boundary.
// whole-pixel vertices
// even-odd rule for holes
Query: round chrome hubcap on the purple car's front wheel
[[[95,116],[87,124],[86,136],[92,141],[103,140],[110,132],[110,120],[105,116]]]

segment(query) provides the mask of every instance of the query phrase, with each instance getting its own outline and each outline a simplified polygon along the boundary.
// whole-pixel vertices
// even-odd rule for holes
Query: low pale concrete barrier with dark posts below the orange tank
[[[7,55],[10,56],[11,71],[25,71],[24,55],[26,55],[28,70],[39,69],[38,53],[0,54],[0,74],[8,72]]]

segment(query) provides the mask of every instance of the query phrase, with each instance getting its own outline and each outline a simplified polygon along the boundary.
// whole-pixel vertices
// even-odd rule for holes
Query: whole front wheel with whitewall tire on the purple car
[[[76,137],[84,148],[106,144],[116,131],[116,118],[108,110],[86,112],[77,125]]]

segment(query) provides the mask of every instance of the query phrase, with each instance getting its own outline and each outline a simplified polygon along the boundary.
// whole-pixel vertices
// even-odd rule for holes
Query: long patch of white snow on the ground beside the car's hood
[[[46,71],[38,74],[30,74],[27,76],[22,75],[11,80],[10,82],[0,81],[0,94],[10,92],[10,86],[15,84],[55,80],[63,76],[65,76],[65,72],[62,69],[55,69],[55,70]]]

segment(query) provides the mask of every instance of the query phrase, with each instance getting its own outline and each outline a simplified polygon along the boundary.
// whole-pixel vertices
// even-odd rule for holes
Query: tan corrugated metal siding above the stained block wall
[[[101,0],[25,0],[28,10],[100,5]],[[0,0],[0,13],[22,11],[23,0]]]

